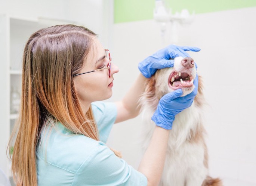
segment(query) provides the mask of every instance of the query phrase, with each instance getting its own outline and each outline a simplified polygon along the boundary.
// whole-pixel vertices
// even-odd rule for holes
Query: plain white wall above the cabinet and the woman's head
[[[99,35],[108,44],[111,0],[0,0],[0,13],[26,19],[55,19],[83,25]],[[107,7],[107,8],[106,8]],[[53,22],[54,23],[54,22]]]

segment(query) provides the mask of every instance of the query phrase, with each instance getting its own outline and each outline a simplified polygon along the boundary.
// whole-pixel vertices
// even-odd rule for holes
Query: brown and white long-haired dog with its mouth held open
[[[140,99],[144,123],[144,150],[148,147],[155,124],[151,116],[160,98],[176,89],[185,96],[194,90],[196,69],[192,58],[175,58],[173,68],[158,70],[146,83]],[[175,116],[170,131],[161,186],[222,186],[220,179],[208,176],[208,154],[204,140],[203,110],[205,105],[201,77],[191,107]]]

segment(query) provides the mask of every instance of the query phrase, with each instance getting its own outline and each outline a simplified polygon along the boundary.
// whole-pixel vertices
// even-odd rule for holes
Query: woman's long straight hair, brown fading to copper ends
[[[57,25],[40,29],[28,39],[22,60],[19,119],[9,142],[10,149],[16,133],[12,172],[18,186],[37,185],[36,148],[47,119],[99,141],[92,108],[84,115],[73,83],[73,74],[83,67],[95,37],[82,26]]]

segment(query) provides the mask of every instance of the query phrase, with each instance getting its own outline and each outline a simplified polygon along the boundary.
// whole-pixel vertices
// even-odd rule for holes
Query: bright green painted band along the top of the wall
[[[172,13],[207,13],[256,6],[256,0],[166,0]],[[114,0],[114,23],[153,19],[155,0]]]

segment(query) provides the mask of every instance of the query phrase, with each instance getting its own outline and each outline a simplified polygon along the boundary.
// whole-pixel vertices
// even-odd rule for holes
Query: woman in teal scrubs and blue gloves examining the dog
[[[114,122],[138,115],[146,77],[173,66],[169,59],[188,55],[186,50],[200,49],[170,45],[158,51],[139,64],[144,76],[123,100],[93,103],[111,97],[113,74],[118,72],[95,33],[81,26],[57,25],[31,35],[24,49],[21,109],[14,131],[16,184],[157,185],[172,121],[192,104],[196,91],[179,100],[182,91],[177,90],[160,100],[152,117],[155,132],[138,171],[105,142]]]

